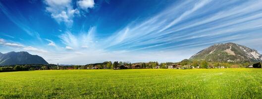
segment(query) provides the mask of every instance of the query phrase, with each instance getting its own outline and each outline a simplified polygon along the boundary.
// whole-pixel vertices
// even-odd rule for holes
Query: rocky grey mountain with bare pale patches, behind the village
[[[258,62],[262,55],[255,49],[234,44],[215,44],[190,57],[190,60],[207,60],[216,62]]]

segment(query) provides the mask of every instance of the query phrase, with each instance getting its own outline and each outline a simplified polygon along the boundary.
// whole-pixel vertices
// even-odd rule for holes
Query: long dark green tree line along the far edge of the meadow
[[[59,66],[55,64],[26,64],[26,65],[10,65],[10,66],[2,66],[0,67],[0,72],[9,72],[9,71],[29,71],[29,70],[66,70],[66,69],[137,69],[137,68],[161,68],[166,69],[170,65],[180,65],[185,66],[184,69],[188,69],[190,67],[198,67],[198,68],[231,68],[234,67],[242,67],[245,68],[253,64],[252,62],[245,63],[234,63],[234,62],[212,62],[206,60],[189,60],[184,59],[180,62],[163,62],[158,63],[157,61],[150,62],[139,62],[139,63],[131,63],[131,62],[122,62],[122,61],[105,61],[103,63],[94,63],[87,65],[70,65],[70,66]]]

